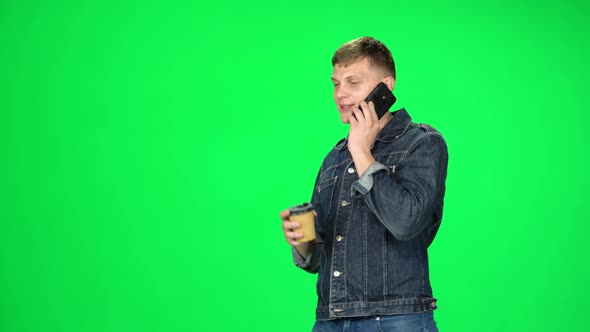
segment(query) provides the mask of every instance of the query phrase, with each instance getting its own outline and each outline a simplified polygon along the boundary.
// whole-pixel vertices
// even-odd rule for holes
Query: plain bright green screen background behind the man
[[[449,146],[439,328],[589,329],[582,3],[2,1],[0,331],[310,330],[278,213],[364,35]]]

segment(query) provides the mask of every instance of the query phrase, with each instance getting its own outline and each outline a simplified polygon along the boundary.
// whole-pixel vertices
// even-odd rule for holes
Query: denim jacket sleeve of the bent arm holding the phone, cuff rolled
[[[414,238],[432,221],[447,174],[447,146],[440,134],[421,136],[408,151],[394,169],[374,162],[352,185],[399,240]]]

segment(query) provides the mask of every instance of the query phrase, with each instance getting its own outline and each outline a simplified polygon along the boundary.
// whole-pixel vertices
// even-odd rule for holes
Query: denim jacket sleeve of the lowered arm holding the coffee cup
[[[314,186],[313,186],[313,194],[311,196],[311,204],[315,211],[320,210],[320,197],[318,193],[318,181],[320,178],[320,174],[322,172],[323,167],[320,168],[318,175],[316,177]],[[310,242],[311,251],[310,255],[307,258],[301,257],[301,254],[295,249],[294,246],[291,246],[291,250],[293,253],[293,262],[295,265],[309,273],[318,273],[320,270],[320,257],[321,252],[324,247],[324,231],[319,223],[318,217],[315,218],[315,230],[316,230],[316,239]]]

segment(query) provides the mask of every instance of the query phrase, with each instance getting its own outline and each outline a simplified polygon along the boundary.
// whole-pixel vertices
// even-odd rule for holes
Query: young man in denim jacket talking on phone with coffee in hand
[[[295,264],[319,273],[313,331],[437,331],[427,248],[442,219],[445,141],[403,108],[378,119],[364,102],[379,82],[395,85],[381,42],[352,40],[332,65],[334,101],[350,131],[317,175],[316,240],[298,242],[299,224],[280,213]]]

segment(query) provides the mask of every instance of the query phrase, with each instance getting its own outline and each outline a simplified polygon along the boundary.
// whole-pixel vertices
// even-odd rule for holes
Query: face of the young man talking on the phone
[[[334,83],[334,101],[340,113],[342,123],[349,123],[352,110],[367,98],[369,93],[381,82],[383,73],[371,66],[367,58],[344,66],[334,65],[332,83]]]

